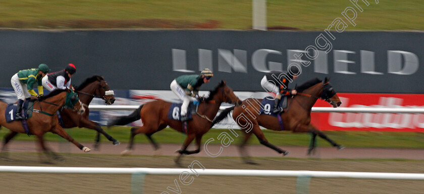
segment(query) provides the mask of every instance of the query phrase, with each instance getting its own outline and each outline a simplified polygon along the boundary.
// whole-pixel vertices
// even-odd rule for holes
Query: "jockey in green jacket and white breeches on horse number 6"
[[[187,108],[190,101],[199,98],[199,89],[203,83],[209,82],[214,74],[209,69],[203,69],[200,75],[182,75],[171,83],[171,90],[183,101],[181,106],[181,121],[187,121]]]

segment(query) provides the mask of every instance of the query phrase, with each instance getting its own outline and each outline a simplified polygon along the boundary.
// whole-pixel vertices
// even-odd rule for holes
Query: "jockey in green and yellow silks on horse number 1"
[[[40,64],[38,68],[21,70],[12,76],[10,82],[18,96],[18,109],[16,110],[16,119],[22,119],[22,104],[25,100],[29,100],[31,95],[37,96],[37,98],[43,95],[43,86],[41,84],[41,78],[43,78],[50,69],[46,64]],[[32,88],[32,85],[37,82],[38,94]]]

